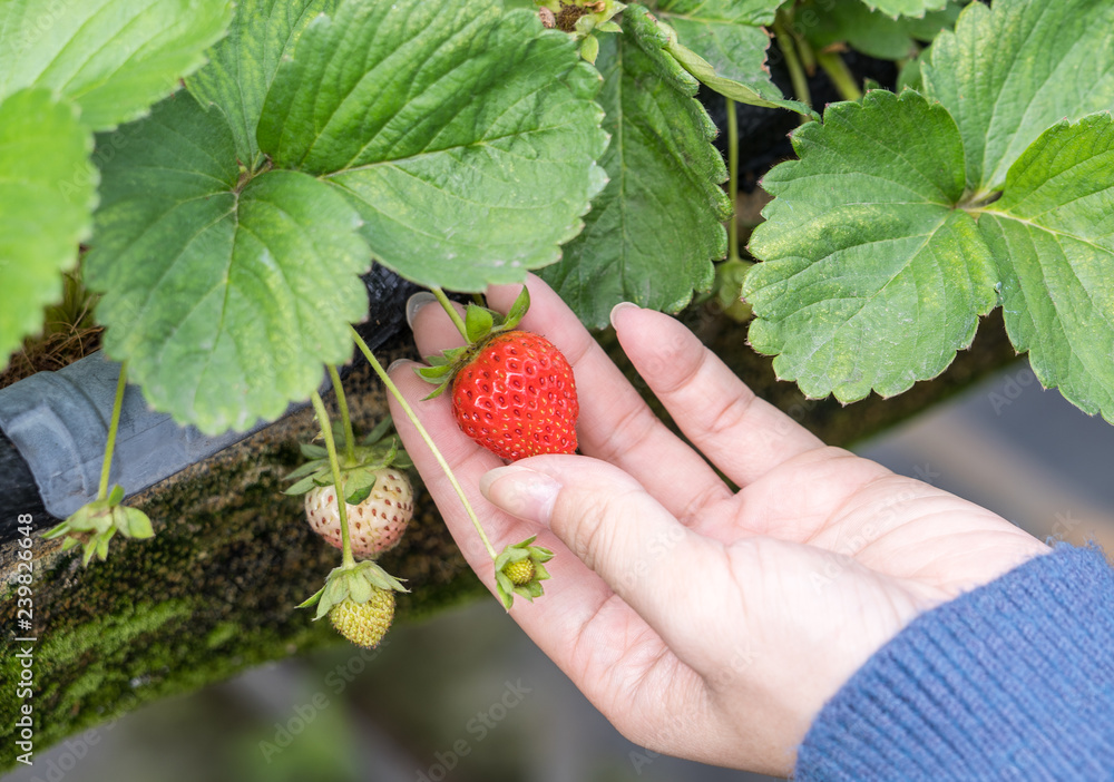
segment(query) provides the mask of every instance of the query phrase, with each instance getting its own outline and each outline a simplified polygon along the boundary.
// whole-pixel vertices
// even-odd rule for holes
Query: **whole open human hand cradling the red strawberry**
[[[946,491],[825,447],[754,394],[674,319],[612,314],[673,434],[545,283],[522,328],[571,362],[586,456],[504,467],[463,434],[413,364],[391,377],[437,439],[496,546],[538,534],[553,580],[510,614],[628,739],[717,765],[788,774],[821,706],[921,612],[1049,549]],[[494,287],[506,311],[517,286]],[[460,343],[414,316],[422,355]],[[469,564],[491,559],[429,450],[393,418]],[[482,496],[481,496],[482,487]],[[487,500],[483,499],[487,498]]]

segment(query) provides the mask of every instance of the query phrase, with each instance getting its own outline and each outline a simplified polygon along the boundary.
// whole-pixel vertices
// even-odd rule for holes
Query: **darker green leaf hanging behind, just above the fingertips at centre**
[[[612,143],[600,162],[610,182],[561,262],[543,273],[592,326],[606,325],[620,301],[680,310],[711,286],[712,261],[727,250],[715,125],[693,97],[696,80],[664,51],[668,41],[638,6],[624,11],[622,36],[603,40],[599,101]]]

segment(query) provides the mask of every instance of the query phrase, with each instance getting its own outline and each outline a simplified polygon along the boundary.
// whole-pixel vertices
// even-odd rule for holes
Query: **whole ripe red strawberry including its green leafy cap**
[[[427,399],[451,387],[461,431],[510,460],[573,453],[577,446],[580,408],[573,368],[549,340],[517,329],[529,305],[525,287],[506,317],[469,305],[469,343],[430,356],[430,365],[418,370],[438,385]]]

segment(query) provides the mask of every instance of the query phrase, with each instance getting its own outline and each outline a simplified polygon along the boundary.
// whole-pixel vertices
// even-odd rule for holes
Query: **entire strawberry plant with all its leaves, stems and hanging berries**
[[[351,328],[372,264],[447,306],[443,289],[537,270],[590,326],[715,285],[779,377],[843,402],[936,377],[1001,306],[1042,383],[1114,420],[1112,30],[1106,0],[6,0],[0,355],[79,267],[105,352],[154,409],[217,433],[312,398],[326,444],[294,491],[343,550],[315,597],[345,627],[401,588],[352,549],[404,521],[348,525],[404,457],[358,446],[343,409],[334,437],[317,395],[353,346],[398,393]],[[860,84],[849,50],[897,62],[900,91]],[[822,115],[818,71],[844,98]],[[698,99],[715,94],[726,162]],[[745,248],[736,102],[800,119]],[[575,450],[564,358],[515,312],[449,309],[472,346],[424,374],[452,379],[466,429],[510,437],[508,458]],[[485,351],[512,350],[546,389],[490,395]],[[118,405],[99,493],[57,530],[87,563],[152,531],[108,490]],[[469,514],[508,607],[540,595],[545,549],[498,551]]]

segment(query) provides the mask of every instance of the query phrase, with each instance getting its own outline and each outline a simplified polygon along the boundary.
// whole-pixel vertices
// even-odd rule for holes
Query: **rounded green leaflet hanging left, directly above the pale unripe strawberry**
[[[276,418],[322,362],[351,358],[348,324],[368,306],[359,217],[305,174],[242,177],[223,115],[188,92],[120,133],[86,264],[106,351],[206,433]]]

